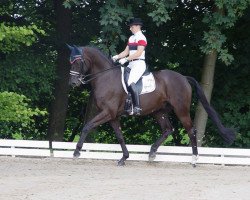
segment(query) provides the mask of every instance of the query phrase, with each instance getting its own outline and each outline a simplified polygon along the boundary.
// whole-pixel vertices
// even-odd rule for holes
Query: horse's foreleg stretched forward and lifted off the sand
[[[111,119],[110,114],[106,111],[102,111],[98,115],[96,115],[92,120],[90,120],[82,129],[81,137],[79,141],[77,142],[76,149],[74,151],[74,158],[78,158],[80,156],[80,151],[83,146],[83,142],[85,141],[85,138],[87,137],[88,133],[96,128],[97,126],[109,121]]]

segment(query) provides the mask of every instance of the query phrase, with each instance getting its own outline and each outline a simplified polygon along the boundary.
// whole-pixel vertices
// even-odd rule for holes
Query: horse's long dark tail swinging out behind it
[[[188,82],[191,83],[195,87],[196,94],[198,96],[199,101],[203,105],[208,116],[212,119],[213,123],[218,127],[219,133],[222,136],[222,138],[225,140],[226,143],[232,144],[233,141],[235,140],[234,130],[223,126],[217,112],[208,103],[207,98],[206,98],[201,86],[199,85],[199,83],[192,77],[186,76],[186,78],[187,78]]]

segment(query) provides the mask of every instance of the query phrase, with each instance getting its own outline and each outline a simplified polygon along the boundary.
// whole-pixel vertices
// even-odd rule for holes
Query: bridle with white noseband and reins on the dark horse
[[[86,62],[85,62],[85,59],[83,58],[82,55],[77,55],[75,56],[74,60],[73,61],[70,61],[71,65],[77,61],[77,60],[80,60],[81,61],[81,69],[84,69],[84,65],[86,66]],[[111,68],[108,68],[108,69],[105,69],[103,71],[100,71],[100,72],[97,72],[97,73],[94,73],[94,74],[87,74],[87,75],[83,75],[83,73],[86,73],[86,72],[83,72],[83,73],[80,73],[80,72],[77,72],[77,71],[73,71],[73,70],[70,70],[70,75],[71,76],[77,76],[78,77],[78,80],[83,84],[87,84],[89,83],[90,81],[96,79],[97,77],[99,77],[100,75],[102,75],[102,73],[104,72],[107,72],[109,70],[113,70],[113,69],[118,69],[118,67],[120,67],[121,65],[115,65],[114,67],[111,67]],[[84,71],[84,70],[81,70],[81,71]]]

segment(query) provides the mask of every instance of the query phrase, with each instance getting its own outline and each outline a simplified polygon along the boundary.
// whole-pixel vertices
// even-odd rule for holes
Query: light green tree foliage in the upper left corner
[[[34,3],[33,3],[34,4]],[[20,8],[19,8],[20,6]],[[10,53],[20,50],[20,46],[31,46],[37,41],[39,35],[44,35],[43,29],[34,22],[25,24],[23,18],[29,6],[22,6],[16,1],[4,0],[0,7],[0,51]],[[13,12],[14,11],[14,12]],[[2,19],[6,19],[2,21]]]

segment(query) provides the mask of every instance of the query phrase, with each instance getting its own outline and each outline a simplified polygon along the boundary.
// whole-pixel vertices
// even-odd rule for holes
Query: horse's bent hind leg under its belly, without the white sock
[[[149,161],[153,161],[156,157],[156,151],[164,140],[173,132],[173,127],[163,111],[154,113],[156,121],[160,124],[162,135],[161,137],[151,146],[149,152]]]

